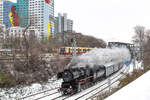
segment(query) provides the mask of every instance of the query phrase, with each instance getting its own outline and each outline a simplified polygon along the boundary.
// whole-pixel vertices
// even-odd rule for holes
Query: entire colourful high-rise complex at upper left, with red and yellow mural
[[[0,24],[6,28],[30,26],[42,40],[54,37],[54,0],[17,0],[0,2]]]

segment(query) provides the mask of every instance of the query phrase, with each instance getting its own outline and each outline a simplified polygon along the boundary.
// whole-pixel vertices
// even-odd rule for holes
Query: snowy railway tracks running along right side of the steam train
[[[113,76],[110,76],[109,78],[112,81],[110,85],[118,82],[118,80],[123,77],[123,75],[120,73],[126,72],[127,70],[128,70],[128,68],[124,67],[124,69],[120,70],[119,72],[117,72]],[[96,85],[98,85],[100,83],[101,83],[101,85],[95,86],[95,88],[90,90],[90,91],[84,90],[82,95],[80,95],[81,93],[79,92],[79,93],[77,93],[75,95],[71,95],[71,96],[59,96],[59,97],[56,97],[52,100],[89,100],[93,96],[95,96],[95,95],[99,94],[100,92],[104,91],[105,89],[109,88],[107,79],[105,79],[101,82],[98,82]],[[89,96],[89,95],[91,95],[91,96]],[[73,98],[72,98],[72,96],[73,96]]]

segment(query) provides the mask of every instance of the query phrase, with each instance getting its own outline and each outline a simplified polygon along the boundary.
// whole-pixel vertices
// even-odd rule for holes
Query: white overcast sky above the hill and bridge
[[[150,0],[55,0],[55,15],[68,13],[74,30],[106,41],[130,42],[133,27],[150,28]]]

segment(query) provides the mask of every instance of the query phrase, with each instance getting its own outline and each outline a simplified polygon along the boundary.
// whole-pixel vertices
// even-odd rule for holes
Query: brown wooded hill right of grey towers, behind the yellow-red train
[[[66,31],[63,33],[56,34],[56,40],[63,43],[63,46],[72,46],[71,39],[76,40],[78,47],[98,47],[105,48],[106,42],[102,39],[95,38],[93,36],[84,35],[82,33]]]

